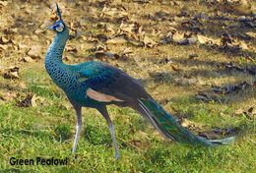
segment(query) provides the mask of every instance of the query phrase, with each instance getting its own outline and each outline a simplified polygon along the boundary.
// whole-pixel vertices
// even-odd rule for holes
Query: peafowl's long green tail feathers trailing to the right
[[[234,137],[223,140],[203,140],[180,126],[152,97],[150,97],[150,99],[139,99],[138,101],[141,107],[139,113],[149,119],[164,138],[172,139],[179,144],[206,146],[230,144],[234,142]]]

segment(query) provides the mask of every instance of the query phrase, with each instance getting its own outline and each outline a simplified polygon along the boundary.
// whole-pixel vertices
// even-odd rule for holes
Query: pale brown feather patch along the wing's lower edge
[[[111,101],[124,101],[124,100],[121,100],[119,98],[116,98],[114,96],[111,96],[111,95],[107,95],[107,94],[104,94],[104,93],[101,93],[101,92],[98,92],[92,88],[89,88],[87,90],[87,95],[92,98],[92,99],[95,99],[97,101],[101,101],[101,102],[111,102]]]

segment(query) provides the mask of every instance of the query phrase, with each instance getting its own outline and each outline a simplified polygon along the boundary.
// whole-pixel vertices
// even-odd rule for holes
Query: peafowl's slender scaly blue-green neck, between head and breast
[[[50,44],[46,55],[45,55],[45,66],[49,63],[62,63],[62,55],[64,47],[66,45],[67,39],[69,37],[69,29],[66,29],[62,32],[57,32],[55,39]],[[47,67],[46,67],[47,68]]]

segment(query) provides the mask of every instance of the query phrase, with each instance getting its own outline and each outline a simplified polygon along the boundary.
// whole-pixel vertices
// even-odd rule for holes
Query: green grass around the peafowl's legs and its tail
[[[35,77],[38,74],[30,71],[24,79],[30,83]],[[109,106],[116,136],[129,143],[139,141],[137,145],[142,148],[118,140],[121,157],[115,160],[104,119],[96,110],[85,108],[75,159],[71,154],[76,124],[74,110],[63,106],[67,100],[62,93],[53,94],[54,87],[38,87],[43,85],[43,77],[28,84],[29,91],[51,102],[28,108],[17,107],[15,101],[1,105],[0,160],[4,172],[251,172],[256,169],[255,122],[230,117],[235,108],[228,104],[203,103],[188,96],[175,97],[163,107],[171,106],[179,115],[190,115],[190,120],[208,128],[239,128],[237,142],[212,149],[165,142],[135,111]],[[70,160],[67,166],[11,166],[9,163],[11,157],[35,159],[38,156]]]

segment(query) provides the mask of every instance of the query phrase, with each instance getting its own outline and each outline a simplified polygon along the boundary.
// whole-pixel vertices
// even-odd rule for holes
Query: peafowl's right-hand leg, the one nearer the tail
[[[100,112],[100,114],[105,118],[107,126],[108,126],[108,130],[110,131],[111,137],[112,137],[112,141],[114,143],[114,150],[115,150],[115,158],[118,159],[120,154],[118,151],[118,147],[116,144],[116,139],[115,139],[115,133],[114,133],[114,125],[107,113],[106,107],[103,106],[101,108],[97,108],[97,110]]]

